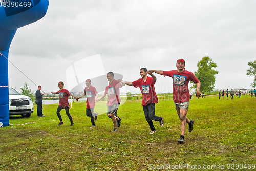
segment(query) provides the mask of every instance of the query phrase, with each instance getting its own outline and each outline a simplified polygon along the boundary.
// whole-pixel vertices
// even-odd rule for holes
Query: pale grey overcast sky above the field
[[[105,73],[120,73],[126,81],[139,79],[142,67],[177,69],[180,58],[194,73],[209,56],[219,71],[215,88],[251,88],[246,69],[256,60],[255,7],[256,1],[234,0],[50,0],[44,18],[17,30],[9,60],[45,92],[57,91],[59,81],[66,86],[68,67],[96,54]],[[156,77],[157,93],[173,91],[172,78]],[[37,90],[9,63],[9,86],[20,91],[25,81]]]

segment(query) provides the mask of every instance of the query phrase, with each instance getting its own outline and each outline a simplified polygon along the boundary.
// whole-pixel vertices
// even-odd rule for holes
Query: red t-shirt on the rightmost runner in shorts
[[[174,102],[183,103],[189,101],[190,95],[188,90],[189,81],[194,83],[200,82],[197,77],[192,72],[184,70],[179,73],[177,70],[172,71],[163,71],[164,76],[169,76],[173,78],[173,87],[174,87]]]

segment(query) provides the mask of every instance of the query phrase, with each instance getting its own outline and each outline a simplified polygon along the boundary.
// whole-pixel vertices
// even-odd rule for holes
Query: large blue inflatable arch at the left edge
[[[0,125],[9,125],[8,54],[18,28],[46,15],[48,0],[0,0]],[[7,58],[5,58],[5,57]]]

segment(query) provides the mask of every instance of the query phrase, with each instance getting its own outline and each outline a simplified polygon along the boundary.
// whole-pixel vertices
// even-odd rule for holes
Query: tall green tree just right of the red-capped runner
[[[195,72],[195,76],[201,82],[200,90],[204,92],[210,92],[214,90],[215,74],[219,71],[214,70],[217,67],[216,63],[212,62],[212,59],[205,56],[197,64],[198,70]],[[193,85],[196,88],[196,84]]]

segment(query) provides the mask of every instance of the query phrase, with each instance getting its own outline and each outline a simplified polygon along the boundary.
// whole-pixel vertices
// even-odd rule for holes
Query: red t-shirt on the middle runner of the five
[[[108,106],[113,106],[116,103],[120,103],[120,91],[119,88],[122,87],[122,84],[117,82],[117,80],[113,80],[111,83],[109,83],[109,86],[106,87],[105,93],[108,94]]]

